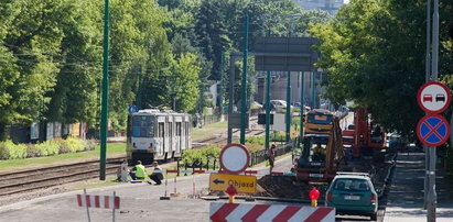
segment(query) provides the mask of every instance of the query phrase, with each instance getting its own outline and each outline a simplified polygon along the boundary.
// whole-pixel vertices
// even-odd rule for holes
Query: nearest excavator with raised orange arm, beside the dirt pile
[[[345,160],[339,120],[333,116],[327,134],[306,134],[298,159],[298,178],[309,181],[330,181]]]

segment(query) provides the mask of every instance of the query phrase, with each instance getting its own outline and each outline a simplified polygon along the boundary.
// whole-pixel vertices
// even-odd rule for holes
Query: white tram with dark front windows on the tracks
[[[128,116],[127,157],[134,164],[181,157],[192,148],[191,115],[172,110],[145,109]]]

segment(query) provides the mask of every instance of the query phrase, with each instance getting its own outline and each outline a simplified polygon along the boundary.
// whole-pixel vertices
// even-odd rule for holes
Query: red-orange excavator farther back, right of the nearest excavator
[[[358,108],[354,113],[354,125],[349,125],[343,131],[345,145],[352,146],[352,156],[374,156],[374,159],[381,162],[386,147],[386,133],[382,127],[370,121],[368,112],[364,108]]]

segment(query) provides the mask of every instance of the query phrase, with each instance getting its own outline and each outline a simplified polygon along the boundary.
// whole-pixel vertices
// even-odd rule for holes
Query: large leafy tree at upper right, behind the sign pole
[[[451,14],[452,1],[440,3],[440,23]],[[337,104],[354,101],[389,131],[413,135],[423,115],[416,96],[424,82],[425,2],[353,0],[335,19],[314,25],[328,75],[327,97]],[[442,25],[441,25],[442,26]],[[440,42],[446,40],[441,29]],[[451,76],[452,52],[440,44],[440,76]]]

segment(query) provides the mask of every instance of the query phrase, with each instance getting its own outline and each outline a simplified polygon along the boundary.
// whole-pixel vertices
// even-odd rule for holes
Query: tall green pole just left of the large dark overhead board
[[[240,104],[240,144],[246,144],[247,124],[247,57],[248,57],[248,13],[244,18],[244,62],[242,62],[242,93]]]

